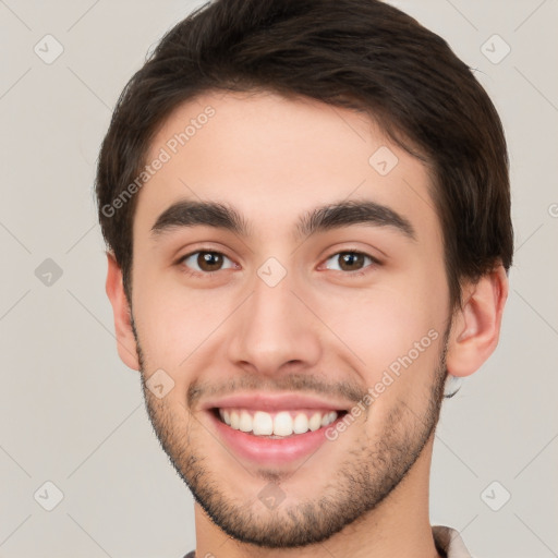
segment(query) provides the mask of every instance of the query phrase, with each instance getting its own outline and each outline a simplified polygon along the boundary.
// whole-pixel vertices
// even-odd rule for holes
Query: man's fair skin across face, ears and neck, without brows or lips
[[[446,371],[472,374],[494,351],[504,269],[464,282],[462,306],[450,307],[428,169],[349,109],[271,93],[207,93],[168,118],[147,160],[208,105],[215,116],[137,194],[133,322],[110,253],[107,276],[121,359],[144,383],[159,368],[174,383],[162,399],[148,389],[145,397],[162,447],[197,499],[196,556],[438,556],[428,481],[442,383]],[[385,177],[368,163],[381,146],[399,159]],[[251,234],[196,226],[155,239],[158,216],[181,199],[227,203]],[[365,225],[294,239],[300,215],[347,199],[392,208],[415,240]],[[204,272],[195,257],[180,260],[196,250],[223,254],[223,268],[189,275],[187,266]],[[352,251],[380,263],[361,260],[361,275],[357,264],[343,270],[339,254]],[[287,270],[274,288],[257,275],[271,256]],[[436,340],[366,412],[300,462],[239,459],[202,410],[216,390],[324,397],[327,388],[355,404],[432,330]],[[270,482],[284,496],[274,510],[258,499]]]

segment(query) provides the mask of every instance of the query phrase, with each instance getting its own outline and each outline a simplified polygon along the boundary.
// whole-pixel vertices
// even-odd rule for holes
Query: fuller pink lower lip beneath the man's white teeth
[[[235,430],[217,418],[211,411],[208,414],[221,439],[236,456],[263,465],[291,463],[314,453],[325,441],[328,441],[326,430],[335,427],[337,421],[341,420],[341,416],[338,416],[331,424],[322,426],[317,430],[274,439]]]

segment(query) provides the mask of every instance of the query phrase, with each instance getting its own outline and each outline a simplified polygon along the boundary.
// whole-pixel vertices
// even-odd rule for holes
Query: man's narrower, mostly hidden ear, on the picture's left
[[[124,283],[122,281],[122,271],[117,264],[114,255],[107,252],[108,271],[106,291],[112,304],[114,314],[114,331],[117,333],[118,354],[122,362],[134,371],[140,369],[140,359],[137,356],[137,347],[132,329],[132,314],[130,304],[124,294]]]

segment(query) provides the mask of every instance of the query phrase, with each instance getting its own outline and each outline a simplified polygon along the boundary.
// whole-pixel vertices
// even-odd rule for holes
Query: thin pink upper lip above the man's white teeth
[[[211,399],[203,408],[208,409],[251,409],[254,411],[294,411],[296,409],[330,409],[347,411],[352,407],[347,401],[320,399],[300,393],[250,392]]]

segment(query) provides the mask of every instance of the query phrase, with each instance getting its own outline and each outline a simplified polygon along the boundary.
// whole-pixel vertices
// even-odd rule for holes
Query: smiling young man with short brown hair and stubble
[[[497,344],[512,229],[499,118],[441,38],[376,0],[205,5],[96,189],[189,557],[469,556],[429,523],[434,432]]]

